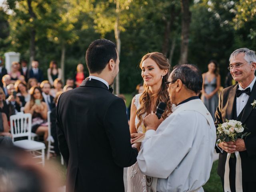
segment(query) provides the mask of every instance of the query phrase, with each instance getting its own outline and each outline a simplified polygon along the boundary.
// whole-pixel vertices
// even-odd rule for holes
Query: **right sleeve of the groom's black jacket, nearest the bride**
[[[114,162],[120,167],[128,167],[136,162],[138,150],[132,148],[130,131],[124,100],[116,98],[104,116],[104,126],[108,136]]]

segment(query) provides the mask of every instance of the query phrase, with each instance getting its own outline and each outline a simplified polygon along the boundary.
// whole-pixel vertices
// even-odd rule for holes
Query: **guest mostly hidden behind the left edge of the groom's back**
[[[56,93],[56,97],[54,98],[55,107],[52,109],[52,112],[50,113],[51,135],[54,139],[54,151],[56,155],[60,154],[60,150],[58,147],[57,131],[56,131],[56,106],[58,104],[59,97],[62,93],[63,91],[59,91]]]

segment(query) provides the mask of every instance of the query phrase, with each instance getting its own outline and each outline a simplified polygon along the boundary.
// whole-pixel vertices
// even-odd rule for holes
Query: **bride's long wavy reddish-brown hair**
[[[165,102],[166,110],[162,114],[162,118],[167,118],[168,115],[172,112],[172,104],[170,102],[169,94],[168,94],[168,86],[165,84],[167,82],[169,75],[170,75],[170,64],[168,62],[168,59],[166,56],[160,52],[152,52],[144,55],[140,61],[140,68],[142,69],[142,62],[146,60],[147,58],[151,58],[156,62],[158,67],[162,70],[167,69],[168,72],[165,76],[162,78],[162,84],[157,93],[152,94],[149,90],[149,86],[147,86],[144,82],[144,92],[140,96],[140,108],[137,110],[136,115],[138,117],[139,123],[136,127],[138,130],[138,127],[142,124],[142,115],[146,113],[150,113],[150,106],[152,104],[152,99],[154,96],[156,96],[156,102],[154,103],[153,112],[156,112],[156,107],[160,102]]]

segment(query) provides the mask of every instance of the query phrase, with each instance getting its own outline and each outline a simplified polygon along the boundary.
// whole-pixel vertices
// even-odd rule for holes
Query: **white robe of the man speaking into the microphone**
[[[138,166],[143,174],[158,178],[158,192],[203,191],[215,142],[210,113],[200,99],[190,100],[178,105],[156,131],[146,132]]]

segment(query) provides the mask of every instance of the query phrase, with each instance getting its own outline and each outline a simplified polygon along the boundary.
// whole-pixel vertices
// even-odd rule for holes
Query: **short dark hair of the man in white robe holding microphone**
[[[182,83],[196,93],[202,90],[202,73],[197,66],[193,64],[177,65],[173,68],[172,82],[180,79]]]

